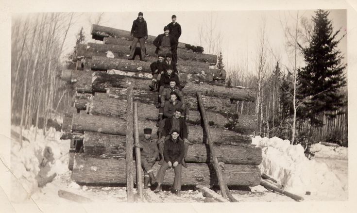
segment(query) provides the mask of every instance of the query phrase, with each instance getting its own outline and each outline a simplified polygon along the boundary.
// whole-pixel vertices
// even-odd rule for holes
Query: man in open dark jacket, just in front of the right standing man
[[[155,40],[153,40],[153,45],[155,45],[155,54],[166,54],[172,51],[176,46],[176,39],[171,36],[170,30],[167,26],[164,27],[164,33],[159,34]]]

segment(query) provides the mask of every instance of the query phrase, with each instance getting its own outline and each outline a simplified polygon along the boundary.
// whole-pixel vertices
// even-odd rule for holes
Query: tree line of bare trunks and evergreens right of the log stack
[[[255,88],[255,103],[237,102],[237,113],[256,115],[256,134],[289,139],[306,148],[325,141],[348,146],[346,64],[338,49],[345,36],[334,31],[329,12],[315,11],[308,19],[294,17],[294,26],[281,20],[289,62],[283,64],[259,32],[255,73],[248,63],[227,69],[226,84]]]

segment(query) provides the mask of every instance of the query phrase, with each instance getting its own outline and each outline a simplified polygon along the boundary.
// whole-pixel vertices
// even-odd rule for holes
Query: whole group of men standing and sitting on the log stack
[[[164,27],[164,33],[159,34],[153,41],[156,47],[157,61],[150,67],[153,74],[152,84],[149,86],[154,92],[158,92],[159,109],[157,136],[153,140],[152,129],[144,129],[144,139],[138,145],[141,150],[141,165],[144,169],[144,188],[156,187],[155,192],[162,191],[165,172],[168,168],[174,168],[175,179],[173,191],[180,196],[182,166],[187,167],[185,157],[190,142],[187,140],[188,129],[186,120],[189,110],[185,104],[182,86],[177,70],[177,45],[181,36],[181,26],[176,22],[176,16],[171,16],[172,22]],[[135,57],[136,44],[140,43],[140,60],[146,61],[145,40],[148,38],[148,30],[143,13],[140,12],[133,22],[131,36],[133,43],[129,60]],[[159,160],[161,165],[156,178],[153,174],[153,165]]]

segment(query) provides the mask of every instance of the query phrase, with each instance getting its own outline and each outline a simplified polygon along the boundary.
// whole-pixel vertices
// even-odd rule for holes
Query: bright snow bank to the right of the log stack
[[[256,136],[252,144],[262,148],[263,161],[259,165],[261,173],[278,180],[284,190],[304,196],[306,192],[329,198],[341,199],[347,196],[337,176],[327,165],[308,160],[304,148],[290,145],[289,140],[278,137]]]

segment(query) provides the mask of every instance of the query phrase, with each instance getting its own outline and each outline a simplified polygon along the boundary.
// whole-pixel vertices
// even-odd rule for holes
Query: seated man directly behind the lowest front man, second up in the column
[[[188,151],[188,146],[190,145],[190,142],[187,140],[188,137],[188,129],[187,125],[185,122],[185,119],[181,117],[182,110],[180,109],[175,109],[173,116],[167,118],[165,120],[165,124],[163,127],[159,127],[157,132],[159,135],[159,140],[157,141],[157,144],[159,146],[159,152],[161,154],[161,160],[159,164],[161,165],[164,161],[163,157],[163,152],[164,152],[164,141],[167,140],[170,137],[170,132],[174,129],[180,130],[180,138],[181,140],[184,141],[185,145],[185,152],[184,152],[184,158],[180,163],[184,166],[187,167],[187,164],[185,162],[185,157],[187,156],[187,151]]]

